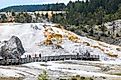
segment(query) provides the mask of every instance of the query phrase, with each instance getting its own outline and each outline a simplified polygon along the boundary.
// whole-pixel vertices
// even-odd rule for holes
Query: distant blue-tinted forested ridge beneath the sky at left
[[[43,5],[19,5],[9,6],[0,10],[0,12],[15,11],[15,12],[34,12],[34,11],[61,11],[65,8],[64,3],[43,4]]]

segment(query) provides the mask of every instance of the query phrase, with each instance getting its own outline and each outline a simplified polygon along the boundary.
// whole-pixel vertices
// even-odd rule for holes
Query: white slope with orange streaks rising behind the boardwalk
[[[86,51],[100,55],[100,60],[119,60],[121,57],[119,46],[81,37],[63,28],[57,28],[58,26],[52,27],[54,25],[45,26],[44,23],[1,24],[0,41],[9,40],[12,36],[20,38],[25,49],[22,57],[40,53],[42,56],[85,54]]]

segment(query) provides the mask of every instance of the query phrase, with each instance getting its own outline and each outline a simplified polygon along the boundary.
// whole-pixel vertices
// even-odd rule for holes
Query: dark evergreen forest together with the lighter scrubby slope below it
[[[86,0],[70,1],[65,14],[54,14],[51,21],[60,23],[66,29],[79,35],[91,36],[100,40],[102,37],[115,38],[115,22],[112,33],[107,32],[106,22],[121,19],[121,0]],[[95,29],[98,25],[98,29]],[[115,37],[114,37],[115,36]]]

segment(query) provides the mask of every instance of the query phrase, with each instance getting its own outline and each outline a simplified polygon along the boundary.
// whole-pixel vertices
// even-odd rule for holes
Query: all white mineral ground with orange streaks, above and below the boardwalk
[[[46,70],[52,80],[67,79],[75,75],[91,77],[93,80],[103,80],[104,78],[106,80],[121,79],[121,76],[116,75],[120,74],[121,71],[121,47],[119,46],[78,36],[71,31],[63,29],[62,26],[57,26],[57,24],[0,24],[0,50],[2,42],[9,40],[10,43],[5,44],[10,46],[7,51],[9,52],[11,49],[16,51],[14,39],[17,37],[21,40],[25,50],[21,57],[27,55],[34,57],[35,54],[38,56],[40,53],[42,56],[85,54],[88,51],[92,55],[99,55],[101,61],[65,60],[32,62],[18,66],[0,66],[1,78],[5,77],[10,80],[15,77],[23,78],[23,80],[37,80],[38,75],[43,70]],[[18,43],[20,42],[18,41]]]

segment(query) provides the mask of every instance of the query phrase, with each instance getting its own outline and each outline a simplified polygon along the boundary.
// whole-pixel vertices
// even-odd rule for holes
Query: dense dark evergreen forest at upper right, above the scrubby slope
[[[55,15],[54,22],[70,25],[100,25],[121,18],[121,0],[70,1],[66,14]]]

